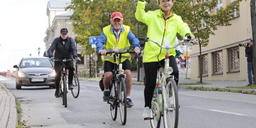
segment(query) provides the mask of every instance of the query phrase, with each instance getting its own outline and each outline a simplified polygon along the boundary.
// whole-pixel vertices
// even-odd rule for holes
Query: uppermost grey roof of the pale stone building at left
[[[59,8],[64,9],[68,5],[70,5],[71,0],[49,0],[47,2],[47,9],[48,8]]]

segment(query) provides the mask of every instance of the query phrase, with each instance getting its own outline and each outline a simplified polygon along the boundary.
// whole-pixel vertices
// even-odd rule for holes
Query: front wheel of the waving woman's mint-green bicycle
[[[163,107],[165,128],[177,128],[179,122],[178,88],[173,78],[166,79],[166,106]]]

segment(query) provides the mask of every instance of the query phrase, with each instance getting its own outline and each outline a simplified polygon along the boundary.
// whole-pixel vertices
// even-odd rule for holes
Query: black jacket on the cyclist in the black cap
[[[62,41],[65,41],[64,45]],[[77,57],[75,42],[74,39],[71,37],[67,37],[67,39],[65,40],[63,40],[61,37],[55,38],[51,47],[47,51],[49,58],[53,57],[54,50],[54,57],[57,59],[72,59],[72,56]]]

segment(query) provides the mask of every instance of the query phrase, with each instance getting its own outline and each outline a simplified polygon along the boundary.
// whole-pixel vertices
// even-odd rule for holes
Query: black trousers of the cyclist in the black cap
[[[69,84],[72,84],[73,76],[74,76],[74,63],[73,62],[66,62],[65,65],[68,67],[69,70]],[[55,87],[56,89],[59,89],[59,83],[60,83],[60,75],[61,75],[61,69],[60,69],[60,62],[54,62],[54,69],[55,69]]]

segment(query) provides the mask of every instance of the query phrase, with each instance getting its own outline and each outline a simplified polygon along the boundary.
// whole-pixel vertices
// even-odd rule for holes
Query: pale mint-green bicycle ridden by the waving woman
[[[185,42],[194,43],[196,41],[191,41],[184,37],[184,40],[175,46],[161,46],[156,41],[150,40],[148,38],[139,37],[138,39],[147,43],[148,41],[154,42],[160,48],[166,49],[165,66],[162,71],[160,70],[162,68],[161,64],[158,64],[157,83],[151,102],[153,117],[144,118],[144,120],[150,120],[152,128],[159,128],[162,116],[165,128],[177,128],[179,120],[178,88],[174,81],[174,76],[170,75],[173,72],[173,69],[172,67],[169,67],[168,49],[175,48]]]

